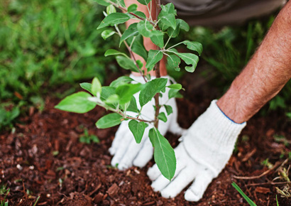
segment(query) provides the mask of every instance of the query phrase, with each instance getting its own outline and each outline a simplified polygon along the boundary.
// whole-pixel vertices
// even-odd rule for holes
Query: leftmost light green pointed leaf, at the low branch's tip
[[[72,94],[55,106],[55,109],[60,109],[67,112],[86,113],[96,107],[96,103],[89,101],[92,97],[87,92],[77,92]]]

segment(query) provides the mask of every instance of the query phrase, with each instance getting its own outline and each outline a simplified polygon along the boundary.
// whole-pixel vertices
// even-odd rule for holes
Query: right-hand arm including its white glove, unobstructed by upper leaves
[[[218,102],[192,124],[175,148],[177,169],[172,182],[157,166],[148,170],[152,187],[175,197],[189,183],[185,200],[198,201],[221,172],[245,121],[282,89],[291,77],[291,3],[280,11],[251,61]]]

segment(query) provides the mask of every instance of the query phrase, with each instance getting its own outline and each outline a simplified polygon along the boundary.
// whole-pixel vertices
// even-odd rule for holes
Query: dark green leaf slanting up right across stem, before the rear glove
[[[150,102],[150,100],[155,96],[155,94],[160,92],[160,90],[163,90],[167,82],[168,80],[165,78],[158,78],[151,80],[150,82],[146,82],[145,86],[141,90],[141,93],[139,94],[139,102],[141,107]]]

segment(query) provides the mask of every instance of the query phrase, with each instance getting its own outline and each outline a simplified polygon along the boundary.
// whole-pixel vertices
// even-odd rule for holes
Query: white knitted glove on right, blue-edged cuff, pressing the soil
[[[175,197],[194,180],[185,193],[185,200],[200,200],[209,183],[229,161],[244,126],[246,122],[237,124],[231,121],[217,107],[216,100],[212,101],[175,148],[177,166],[172,181],[160,174],[156,164],[148,169],[153,190],[160,191],[166,198]]]

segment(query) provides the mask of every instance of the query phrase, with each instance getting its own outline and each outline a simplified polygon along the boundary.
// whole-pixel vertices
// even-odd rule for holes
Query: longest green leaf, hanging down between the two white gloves
[[[150,129],[148,136],[155,148],[153,156],[160,173],[168,180],[171,180],[176,170],[175,151],[170,146],[168,140],[157,129]]]

